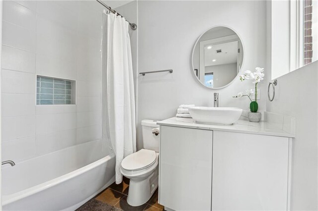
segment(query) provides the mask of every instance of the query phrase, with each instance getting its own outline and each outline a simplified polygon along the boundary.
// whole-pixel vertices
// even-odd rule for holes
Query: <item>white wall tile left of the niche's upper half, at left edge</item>
[[[34,94],[35,74],[1,69],[1,93]]]

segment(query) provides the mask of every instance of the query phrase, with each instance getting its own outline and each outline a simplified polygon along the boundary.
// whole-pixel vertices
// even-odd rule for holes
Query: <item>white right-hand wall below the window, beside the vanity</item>
[[[318,210],[318,61],[277,78],[266,110],[296,117],[291,210]]]

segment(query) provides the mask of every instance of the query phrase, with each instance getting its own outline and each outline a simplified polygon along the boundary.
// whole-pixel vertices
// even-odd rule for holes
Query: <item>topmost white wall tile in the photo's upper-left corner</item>
[[[18,26],[35,30],[36,13],[12,0],[3,1],[4,21],[16,24]]]

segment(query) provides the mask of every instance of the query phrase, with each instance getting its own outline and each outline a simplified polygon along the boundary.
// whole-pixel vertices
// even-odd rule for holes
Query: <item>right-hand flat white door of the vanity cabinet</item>
[[[212,210],[287,210],[288,138],[214,131]]]

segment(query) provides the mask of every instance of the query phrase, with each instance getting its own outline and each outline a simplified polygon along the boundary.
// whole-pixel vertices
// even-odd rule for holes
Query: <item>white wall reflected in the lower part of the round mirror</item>
[[[223,87],[237,76],[237,63],[206,66],[205,72],[213,72],[213,86]]]

